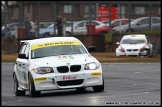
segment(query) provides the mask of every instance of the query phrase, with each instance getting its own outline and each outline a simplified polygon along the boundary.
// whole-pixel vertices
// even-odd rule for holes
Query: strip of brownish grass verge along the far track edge
[[[15,54],[2,54],[2,62],[14,62],[17,58],[17,53]],[[111,63],[122,63],[122,62],[160,62],[160,56],[158,57],[116,57],[114,53],[91,53],[92,56],[97,58],[100,62],[111,62]]]

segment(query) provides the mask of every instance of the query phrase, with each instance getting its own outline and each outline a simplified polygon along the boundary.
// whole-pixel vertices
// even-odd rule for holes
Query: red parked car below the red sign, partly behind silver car
[[[132,19],[131,19],[132,21]],[[103,21],[103,23],[105,23],[107,26],[109,26],[109,21]],[[125,18],[125,19],[115,19],[113,21],[111,21],[111,28],[114,27],[118,27],[121,25],[126,25],[129,23],[129,19]]]

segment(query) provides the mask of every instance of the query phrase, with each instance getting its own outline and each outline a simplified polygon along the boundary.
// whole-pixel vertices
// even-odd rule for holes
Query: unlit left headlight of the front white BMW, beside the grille
[[[38,74],[53,73],[54,70],[51,67],[40,67],[34,70]]]

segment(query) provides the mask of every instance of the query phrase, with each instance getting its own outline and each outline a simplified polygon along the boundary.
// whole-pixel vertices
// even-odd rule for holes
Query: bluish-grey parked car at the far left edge
[[[10,23],[6,26],[1,27],[1,36],[2,38],[15,38],[16,29],[19,26],[19,23]]]

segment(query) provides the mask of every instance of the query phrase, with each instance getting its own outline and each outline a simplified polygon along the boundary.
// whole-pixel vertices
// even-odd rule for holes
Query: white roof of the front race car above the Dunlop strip
[[[75,37],[48,37],[48,38],[39,38],[39,39],[33,39],[33,40],[26,40],[25,42],[28,42],[29,44],[40,44],[44,42],[58,42],[58,41],[79,41]]]

